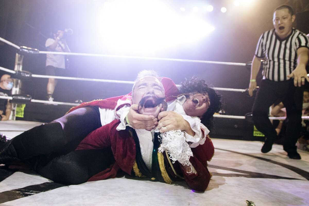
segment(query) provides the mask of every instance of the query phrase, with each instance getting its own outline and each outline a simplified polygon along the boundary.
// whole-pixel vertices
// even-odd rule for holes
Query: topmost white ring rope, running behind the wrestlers
[[[20,47],[12,42],[0,37],[0,40],[20,50]],[[236,62],[221,62],[221,61],[205,61],[205,60],[190,60],[190,59],[174,59],[174,58],[161,58],[161,57],[139,57],[139,56],[126,56],[126,55],[110,55],[110,54],[88,54],[88,53],[74,53],[74,52],[49,52],[39,51],[39,54],[56,54],[56,55],[71,55],[71,56],[86,56],[86,57],[112,57],[112,58],[127,58],[127,59],[147,59],[147,60],[163,60],[163,61],[180,61],[180,62],[193,62],[193,63],[207,63],[207,64],[222,64],[222,65],[235,65],[246,66],[246,63]],[[24,51],[24,50],[23,50]]]

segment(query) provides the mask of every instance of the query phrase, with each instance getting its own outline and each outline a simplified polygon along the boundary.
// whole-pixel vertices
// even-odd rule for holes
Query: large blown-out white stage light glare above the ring
[[[191,45],[214,30],[204,19],[179,14],[158,0],[109,0],[98,9],[96,21],[99,46],[131,55]]]

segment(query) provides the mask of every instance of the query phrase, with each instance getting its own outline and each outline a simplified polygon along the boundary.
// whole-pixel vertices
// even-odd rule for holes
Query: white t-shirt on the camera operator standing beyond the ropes
[[[52,39],[52,38],[49,38],[49,39],[46,40],[45,47],[47,48],[47,51],[49,51],[49,52],[64,52],[63,49],[61,48],[61,46],[63,48],[65,48],[65,45],[61,42],[61,40],[58,41],[56,49],[51,50],[49,48],[49,46],[52,45],[54,42],[55,42],[55,40]],[[59,46],[59,44],[61,46]],[[55,54],[46,54],[46,66],[53,66],[53,67],[65,69],[66,68],[65,56],[64,55],[55,55]]]

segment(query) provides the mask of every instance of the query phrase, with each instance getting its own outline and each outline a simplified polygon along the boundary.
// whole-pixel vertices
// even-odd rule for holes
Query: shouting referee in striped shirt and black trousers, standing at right
[[[267,153],[272,149],[277,138],[268,111],[277,99],[286,107],[287,127],[283,149],[291,159],[301,159],[297,153],[296,142],[300,137],[303,104],[303,86],[305,79],[309,82],[306,64],[309,54],[308,37],[292,27],[295,15],[292,7],[279,6],[273,13],[273,26],[260,36],[252,60],[249,95],[256,88],[256,75],[261,60],[265,59],[263,79],[257,91],[252,114],[256,128],[265,134],[265,144],[261,151]]]

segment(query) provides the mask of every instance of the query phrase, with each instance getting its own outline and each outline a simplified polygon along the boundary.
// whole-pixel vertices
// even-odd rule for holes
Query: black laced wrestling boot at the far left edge
[[[11,144],[12,141],[7,141],[3,136],[1,137],[0,145],[0,164],[7,164],[10,162],[18,161],[16,151]]]

